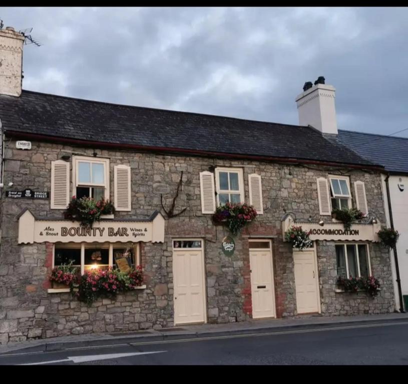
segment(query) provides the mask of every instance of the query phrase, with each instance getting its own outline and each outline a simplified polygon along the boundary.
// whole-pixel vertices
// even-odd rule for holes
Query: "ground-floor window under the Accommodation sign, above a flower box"
[[[337,276],[369,277],[371,264],[367,244],[336,245]]]

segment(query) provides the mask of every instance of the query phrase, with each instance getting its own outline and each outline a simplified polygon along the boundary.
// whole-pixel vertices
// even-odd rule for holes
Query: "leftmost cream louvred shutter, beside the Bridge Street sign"
[[[70,163],[51,161],[51,209],[66,209],[70,203]]]

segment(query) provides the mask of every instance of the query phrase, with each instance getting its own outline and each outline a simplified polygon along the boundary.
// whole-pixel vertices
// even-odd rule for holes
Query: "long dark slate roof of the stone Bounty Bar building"
[[[84,100],[23,90],[0,95],[3,128],[148,147],[308,159],[372,166],[305,126]]]

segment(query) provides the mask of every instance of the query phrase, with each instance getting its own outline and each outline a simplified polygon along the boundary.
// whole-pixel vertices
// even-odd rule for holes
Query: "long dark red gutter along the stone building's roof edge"
[[[209,156],[209,157],[218,157],[218,158],[239,158],[239,159],[250,159],[258,161],[274,161],[281,163],[290,163],[290,164],[314,164],[314,165],[328,165],[336,167],[347,167],[347,168],[356,168],[356,169],[370,169],[377,172],[384,172],[384,167],[378,165],[358,165],[358,164],[347,164],[334,161],[320,161],[320,160],[307,160],[307,159],[298,159],[298,158],[283,158],[283,157],[274,157],[274,156],[263,156],[263,155],[251,155],[251,154],[241,154],[241,153],[225,153],[225,152],[213,152],[208,150],[199,150],[199,149],[185,149],[185,148],[172,148],[172,147],[163,147],[163,146],[147,146],[147,145],[138,145],[138,144],[122,144],[114,142],[101,142],[101,141],[92,141],[92,140],[83,140],[78,138],[67,138],[67,137],[57,137],[43,135],[39,133],[28,133],[28,132],[19,132],[14,130],[8,130],[8,134],[17,138],[32,138],[33,140],[38,141],[51,141],[57,143],[70,143],[78,144],[82,146],[98,146],[100,148],[122,148],[122,149],[135,149],[140,151],[153,151],[161,153],[174,153],[181,155],[196,155],[196,156]]]

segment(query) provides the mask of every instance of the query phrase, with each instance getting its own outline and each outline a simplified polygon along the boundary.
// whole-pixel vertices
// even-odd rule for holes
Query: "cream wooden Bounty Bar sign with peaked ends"
[[[138,242],[164,241],[164,218],[158,213],[151,221],[95,222],[89,227],[78,221],[43,220],[26,210],[19,218],[19,243],[33,242]]]

